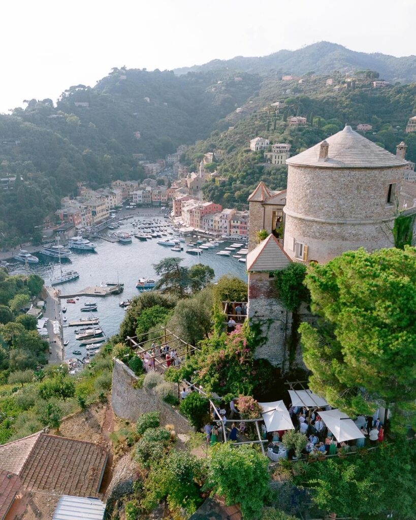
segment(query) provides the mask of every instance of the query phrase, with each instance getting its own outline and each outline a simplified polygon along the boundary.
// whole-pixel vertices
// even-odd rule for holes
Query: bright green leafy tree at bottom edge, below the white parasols
[[[269,493],[267,466],[267,458],[251,446],[216,444],[203,489],[224,497],[227,505],[240,504],[244,520],[258,518]]]

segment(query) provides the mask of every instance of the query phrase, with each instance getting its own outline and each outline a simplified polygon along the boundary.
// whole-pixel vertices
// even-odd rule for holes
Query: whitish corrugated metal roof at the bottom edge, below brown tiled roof
[[[59,499],[52,520],[102,520],[106,504],[96,498],[71,497]]]

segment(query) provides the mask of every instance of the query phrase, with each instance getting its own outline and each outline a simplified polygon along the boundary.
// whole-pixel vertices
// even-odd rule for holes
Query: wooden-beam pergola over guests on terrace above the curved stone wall
[[[162,349],[166,346],[170,347],[170,349],[176,350],[177,357],[182,359],[183,357],[188,357],[192,355],[196,350],[199,350],[198,347],[194,347],[190,345],[186,341],[180,339],[179,336],[174,334],[172,331],[167,329],[166,327],[160,327],[152,331],[152,333],[159,333],[160,335],[156,337],[149,338],[149,333],[140,334],[138,336],[127,336],[126,341],[130,343],[130,346],[133,350],[137,350],[138,355],[140,357],[145,356],[146,353],[150,353],[153,348],[148,346],[149,344],[155,343],[158,348]],[[149,355],[148,359],[154,359],[154,370],[157,372],[164,372],[167,368],[167,359],[165,359],[162,354],[159,355]],[[174,365],[177,367],[177,365]]]

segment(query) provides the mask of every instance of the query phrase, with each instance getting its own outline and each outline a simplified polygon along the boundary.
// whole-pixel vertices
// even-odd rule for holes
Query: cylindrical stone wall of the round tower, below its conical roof
[[[308,246],[308,261],[326,263],[361,246],[368,251],[394,245],[394,204],[388,186],[404,167],[360,170],[289,166],[284,207],[284,250],[293,258],[294,241]]]

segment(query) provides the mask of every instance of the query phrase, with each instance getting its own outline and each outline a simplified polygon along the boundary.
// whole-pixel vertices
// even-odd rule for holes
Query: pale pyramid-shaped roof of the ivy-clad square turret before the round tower
[[[248,271],[275,271],[291,263],[280,242],[273,235],[259,243],[246,257]]]

